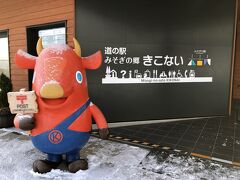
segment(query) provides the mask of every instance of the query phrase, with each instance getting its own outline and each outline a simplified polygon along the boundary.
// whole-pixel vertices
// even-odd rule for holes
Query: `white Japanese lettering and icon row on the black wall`
[[[126,47],[105,47],[102,84],[211,83],[211,62],[207,50],[194,50],[191,58],[176,54],[130,57]]]

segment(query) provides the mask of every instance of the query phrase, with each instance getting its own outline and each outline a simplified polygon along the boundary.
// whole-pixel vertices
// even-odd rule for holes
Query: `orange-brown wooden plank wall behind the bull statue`
[[[27,27],[66,21],[67,43],[72,45],[74,0],[11,0],[0,3],[0,32],[8,33],[9,73],[13,88],[28,88],[28,71],[17,68],[13,62],[18,49],[27,50]]]

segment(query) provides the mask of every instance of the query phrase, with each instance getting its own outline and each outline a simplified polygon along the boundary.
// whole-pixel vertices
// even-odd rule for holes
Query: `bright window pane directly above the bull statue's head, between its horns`
[[[43,48],[52,44],[65,44],[66,33],[65,27],[40,30],[38,36],[43,39]]]

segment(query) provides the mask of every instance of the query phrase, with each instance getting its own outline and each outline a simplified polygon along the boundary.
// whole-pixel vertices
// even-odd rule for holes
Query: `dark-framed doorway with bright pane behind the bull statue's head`
[[[63,30],[64,33],[62,33]],[[66,43],[66,21],[27,27],[27,51],[29,54],[37,56],[36,44],[39,37],[43,37],[43,47],[59,42]],[[32,89],[32,78],[33,70],[28,70],[29,90]]]

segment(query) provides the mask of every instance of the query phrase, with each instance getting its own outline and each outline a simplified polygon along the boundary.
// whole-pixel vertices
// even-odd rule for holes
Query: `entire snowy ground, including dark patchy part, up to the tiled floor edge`
[[[160,179],[240,179],[240,169],[212,161],[199,160],[129,146],[92,137],[82,150],[89,169],[75,174],[52,170],[46,174],[32,171],[32,163],[44,158],[27,136],[7,132],[0,134],[0,180],[160,180]],[[149,154],[149,155],[148,155]]]

